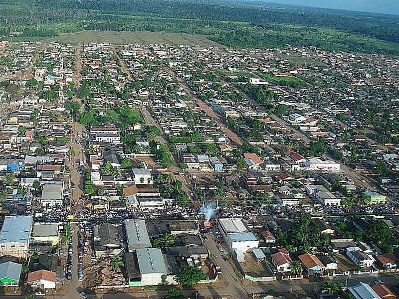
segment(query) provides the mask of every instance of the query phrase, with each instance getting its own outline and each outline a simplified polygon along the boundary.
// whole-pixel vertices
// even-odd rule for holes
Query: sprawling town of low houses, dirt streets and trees
[[[396,299],[399,58],[0,42],[0,299]]]

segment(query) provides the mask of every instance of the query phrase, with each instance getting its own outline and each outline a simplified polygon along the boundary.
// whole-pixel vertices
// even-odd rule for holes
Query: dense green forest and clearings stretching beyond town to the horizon
[[[234,47],[399,53],[399,16],[214,0],[0,0],[0,34],[79,30],[204,34]]]

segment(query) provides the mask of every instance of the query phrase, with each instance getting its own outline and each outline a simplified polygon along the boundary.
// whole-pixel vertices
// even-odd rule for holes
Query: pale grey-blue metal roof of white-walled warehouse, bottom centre
[[[159,248],[141,248],[136,250],[139,261],[140,273],[162,273],[167,274],[164,257]]]

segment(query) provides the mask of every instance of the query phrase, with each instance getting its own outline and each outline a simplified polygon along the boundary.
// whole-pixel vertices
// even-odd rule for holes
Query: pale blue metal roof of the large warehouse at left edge
[[[0,231],[0,243],[29,243],[33,216],[5,216]]]

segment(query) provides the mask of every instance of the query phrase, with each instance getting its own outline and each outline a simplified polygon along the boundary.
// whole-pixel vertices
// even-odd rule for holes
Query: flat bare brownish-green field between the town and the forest
[[[51,39],[62,43],[108,42],[112,44],[174,44],[220,47],[203,35],[149,31],[80,31],[64,33]]]

